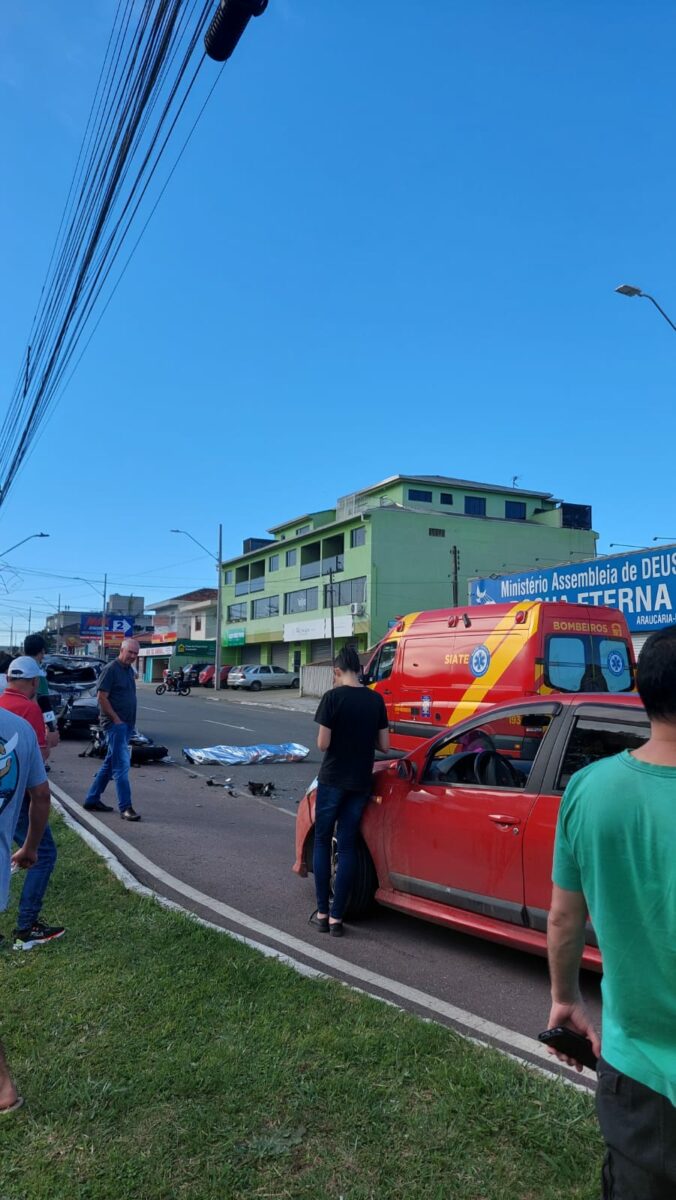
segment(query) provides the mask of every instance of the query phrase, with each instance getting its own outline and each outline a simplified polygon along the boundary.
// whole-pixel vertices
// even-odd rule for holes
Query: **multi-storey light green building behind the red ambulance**
[[[365,650],[394,620],[467,602],[468,581],[596,554],[587,505],[442,475],[393,475],[273,526],[223,562],[223,662],[297,671]]]

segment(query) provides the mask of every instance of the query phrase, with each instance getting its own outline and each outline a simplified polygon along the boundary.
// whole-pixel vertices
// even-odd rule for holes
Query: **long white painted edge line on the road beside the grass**
[[[234,924],[250,930],[252,934],[258,934],[262,937],[267,937],[270,942],[276,942],[280,946],[283,946],[287,950],[301,954],[331,971],[337,971],[343,976],[348,976],[351,979],[358,980],[359,984],[365,985],[363,990],[367,991],[369,986],[377,988],[381,991],[396,996],[400,1001],[408,1001],[409,1004],[415,1004],[418,1008],[426,1010],[433,1016],[442,1016],[445,1020],[453,1021],[454,1025],[460,1025],[465,1030],[469,1030],[472,1039],[479,1040],[481,1044],[497,1042],[498,1046],[496,1048],[493,1045],[492,1049],[502,1049],[504,1046],[510,1057],[514,1057],[516,1054],[520,1062],[524,1060],[521,1060],[519,1051],[521,1051],[521,1054],[530,1055],[531,1058],[539,1058],[542,1062],[550,1063],[551,1060],[546,1049],[534,1038],[527,1038],[516,1030],[505,1028],[503,1025],[497,1025],[495,1021],[489,1021],[483,1016],[477,1016],[474,1013],[468,1013],[462,1008],[457,1008],[455,1004],[449,1004],[447,1001],[439,1000],[438,996],[432,996],[429,992],[420,991],[419,988],[412,988],[408,984],[400,983],[397,979],[389,979],[387,976],[381,976],[377,972],[369,971],[366,967],[361,967],[355,962],[349,962],[348,959],[341,959],[335,954],[330,954],[328,950],[322,950],[318,947],[312,946],[310,942],[304,942],[301,938],[294,937],[292,934],[287,934],[281,929],[275,929],[274,925],[268,925],[265,922],[257,920],[256,917],[250,917],[247,913],[239,912],[237,908],[225,904],[222,900],[216,900],[215,896],[207,895],[207,893],[199,892],[197,888],[191,887],[191,884],[184,883],[183,880],[177,878],[175,875],[169,875],[168,871],[164,871],[156,863],[152,863],[128,841],[125,841],[124,838],[113,833],[113,830],[100,821],[98,817],[95,817],[91,812],[85,812],[84,809],[82,809],[79,804],[76,804],[72,797],[70,797],[67,792],[64,792],[64,790],[56,784],[50,782],[50,788],[67,810],[77,812],[78,822],[84,822],[92,829],[97,829],[103,833],[107,840],[113,842],[113,845],[116,846],[126,858],[128,858],[132,863],[136,863],[140,870],[152,876],[158,883],[163,883],[164,887],[171,888],[172,892],[177,892],[179,895],[185,896],[187,900],[192,900],[203,908],[211,910],[211,912],[217,913],[226,920],[234,922]],[[227,932],[231,931],[227,930]],[[270,953],[269,949],[268,953]],[[295,965],[295,960],[292,960],[292,965]],[[299,964],[299,967],[303,967],[303,964]],[[379,1000],[381,997],[375,994],[375,998]],[[533,1064],[526,1062],[525,1066],[532,1067]],[[590,1090],[588,1086],[576,1082],[574,1078],[576,1075],[575,1072],[567,1068],[563,1063],[561,1067],[566,1074],[555,1075],[554,1072],[546,1069],[545,1067],[537,1067],[536,1069],[544,1072],[544,1074],[552,1078],[562,1079],[564,1082],[580,1091],[587,1092]],[[570,1074],[568,1074],[568,1072],[570,1072]],[[591,1081],[593,1079],[593,1073],[586,1072],[582,1078]]]

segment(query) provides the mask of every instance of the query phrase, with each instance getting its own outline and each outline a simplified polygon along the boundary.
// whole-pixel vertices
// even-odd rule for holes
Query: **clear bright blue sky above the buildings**
[[[114,8],[2,16],[0,396]],[[214,581],[172,527],[228,556],[397,472],[591,503],[602,551],[676,536],[676,335],[614,294],[676,319],[675,52],[666,0],[270,0],[0,509],[0,553],[50,534],[0,641],[96,608],[52,576],[161,599]]]

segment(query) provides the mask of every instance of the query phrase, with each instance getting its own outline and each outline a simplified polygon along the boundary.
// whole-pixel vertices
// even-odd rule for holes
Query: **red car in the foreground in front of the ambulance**
[[[546,953],[551,860],[566,784],[648,737],[634,695],[525,697],[377,762],[347,916],[390,908]],[[298,809],[294,871],[312,869],[316,780]],[[585,966],[600,968],[588,925]]]

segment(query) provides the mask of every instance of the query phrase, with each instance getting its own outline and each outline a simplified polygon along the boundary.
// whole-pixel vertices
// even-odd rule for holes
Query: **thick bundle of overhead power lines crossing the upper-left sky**
[[[70,383],[219,82],[65,379],[196,85],[204,62],[199,35],[211,8],[213,0],[144,0],[132,24],[134,0],[118,0],[22,371],[0,430],[0,504]]]

